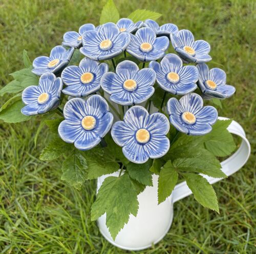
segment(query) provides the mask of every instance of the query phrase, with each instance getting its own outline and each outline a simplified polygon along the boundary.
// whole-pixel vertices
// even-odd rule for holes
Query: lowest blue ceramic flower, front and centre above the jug
[[[114,123],[111,135],[122,146],[124,156],[131,162],[144,163],[157,159],[169,150],[169,121],[162,113],[152,115],[141,106],[127,110],[123,121]]]

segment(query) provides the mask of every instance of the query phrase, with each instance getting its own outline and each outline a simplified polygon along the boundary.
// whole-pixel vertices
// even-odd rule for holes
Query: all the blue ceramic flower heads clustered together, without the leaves
[[[170,44],[178,55],[167,54]],[[69,65],[74,50],[85,56],[79,66]],[[124,60],[115,65],[114,58],[122,52]],[[84,24],[78,32],[65,33],[62,46],[54,47],[49,57],[33,61],[32,72],[40,76],[39,84],[23,91],[26,106],[22,113],[36,115],[55,110],[64,95],[69,95],[63,108],[65,120],[58,126],[62,140],[74,143],[80,150],[89,150],[111,130],[113,140],[131,162],[157,159],[169,150],[166,135],[170,123],[181,133],[205,135],[217,121],[218,112],[214,107],[204,107],[203,99],[224,99],[235,92],[233,86],[226,84],[223,70],[209,70],[209,52],[208,42],[195,41],[190,31],[179,31],[172,23],[159,26],[151,19],[134,23],[121,18],[116,24],[109,22],[96,28],[94,24]],[[130,55],[129,60],[125,59],[126,54]],[[141,69],[132,58],[143,62]],[[102,62],[110,59],[115,72]],[[187,63],[196,66],[184,65]],[[157,85],[164,90],[162,105],[167,106],[169,119],[158,112],[165,107],[152,107],[151,114],[151,97]],[[173,96],[164,104],[166,93]],[[115,104],[119,105],[120,114]]]

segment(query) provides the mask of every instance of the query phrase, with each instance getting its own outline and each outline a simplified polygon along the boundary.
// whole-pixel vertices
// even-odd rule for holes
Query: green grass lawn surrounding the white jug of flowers
[[[22,68],[22,52],[31,59],[47,55],[63,33],[86,22],[98,24],[105,1],[2,0],[0,3],[0,85],[8,73]],[[227,72],[236,94],[223,102],[219,115],[240,122],[255,153],[255,2],[135,1],[115,3],[121,17],[137,8],[163,14],[211,44],[210,67]],[[8,98],[1,98],[1,104]],[[253,125],[254,123],[254,125]],[[95,182],[81,191],[60,181],[59,162],[38,159],[47,131],[33,138],[39,122],[0,122],[0,252],[124,253],[105,241],[90,220]],[[255,157],[254,157],[255,158]],[[220,215],[200,206],[192,196],[175,204],[173,225],[156,246],[139,253],[255,253],[255,160],[214,185]]]

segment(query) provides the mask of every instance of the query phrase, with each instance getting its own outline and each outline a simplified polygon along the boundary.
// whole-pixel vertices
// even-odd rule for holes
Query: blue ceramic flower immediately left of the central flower
[[[61,79],[67,86],[62,92],[74,97],[95,93],[100,89],[102,75],[108,70],[108,64],[84,58],[79,66],[68,66],[62,71]]]

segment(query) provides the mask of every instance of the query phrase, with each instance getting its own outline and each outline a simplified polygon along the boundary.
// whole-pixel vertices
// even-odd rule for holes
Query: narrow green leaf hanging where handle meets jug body
[[[170,194],[178,181],[178,173],[171,161],[167,161],[158,178],[158,204],[163,202]]]

